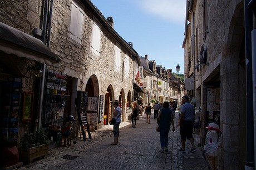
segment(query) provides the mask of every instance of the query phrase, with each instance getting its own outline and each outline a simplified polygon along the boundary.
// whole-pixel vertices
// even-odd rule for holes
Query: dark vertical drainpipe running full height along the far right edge
[[[253,81],[252,81],[252,34],[253,12],[248,10],[249,0],[244,1],[245,57],[246,57],[246,136],[247,152],[245,169],[254,169],[254,124],[253,124]]]

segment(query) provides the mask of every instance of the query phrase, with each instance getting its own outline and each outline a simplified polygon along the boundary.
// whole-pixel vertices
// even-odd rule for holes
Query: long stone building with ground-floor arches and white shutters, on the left
[[[115,99],[127,121],[139,91],[139,56],[91,1],[1,1],[0,43],[1,119],[17,120],[15,127],[2,124],[7,133],[16,129],[1,146],[49,128],[56,147],[66,116],[87,112],[90,130],[101,128]]]

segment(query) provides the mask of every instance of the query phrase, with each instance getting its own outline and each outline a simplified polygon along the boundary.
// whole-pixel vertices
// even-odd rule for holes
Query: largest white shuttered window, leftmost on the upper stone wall
[[[71,2],[71,19],[69,37],[81,44],[83,27],[83,10]]]

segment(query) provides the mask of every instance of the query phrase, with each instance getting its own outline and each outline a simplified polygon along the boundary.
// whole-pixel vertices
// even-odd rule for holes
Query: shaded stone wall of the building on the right
[[[205,4],[203,4],[205,2]],[[204,5],[206,7],[206,26],[204,29]],[[188,64],[188,51],[191,37],[195,35],[192,45],[195,48],[194,59],[199,57],[202,46],[206,49],[206,63],[195,72],[196,101],[201,101],[202,113],[206,111],[206,90],[214,79],[220,81],[220,130],[222,131],[219,169],[243,169],[245,161],[245,63],[243,1],[194,1],[189,12],[188,32],[185,37],[185,65]],[[193,63],[192,63],[193,64]],[[185,66],[186,67],[186,66]],[[194,66],[193,66],[194,67]],[[198,81],[199,80],[199,81]],[[243,85],[239,85],[243,84]],[[201,90],[200,90],[201,89]],[[243,103],[243,102],[242,102]],[[198,104],[198,103],[197,103]],[[204,121],[205,117],[202,118]],[[243,123],[241,123],[243,122]],[[204,124],[207,126],[207,124]],[[204,132],[202,134],[205,134]],[[243,137],[242,137],[243,136]],[[201,136],[204,139],[205,136]],[[204,142],[204,141],[203,141]],[[215,167],[216,168],[216,167]]]

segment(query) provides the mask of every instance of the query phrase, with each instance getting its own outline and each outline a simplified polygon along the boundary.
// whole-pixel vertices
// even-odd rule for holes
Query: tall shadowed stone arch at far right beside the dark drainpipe
[[[245,160],[245,42],[244,4],[234,10],[220,63],[220,128],[223,133],[219,167],[243,169]],[[237,143],[237,144],[232,144]],[[240,165],[240,167],[239,167]]]

